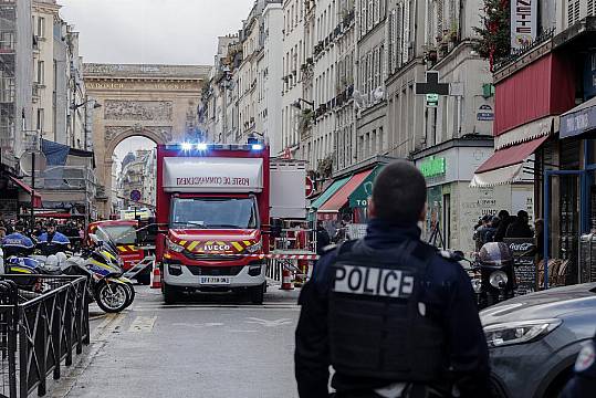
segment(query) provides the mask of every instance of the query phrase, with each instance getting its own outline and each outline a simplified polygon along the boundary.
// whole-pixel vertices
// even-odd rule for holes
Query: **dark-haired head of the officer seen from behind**
[[[427,201],[422,174],[407,160],[396,160],[383,169],[373,188],[373,213],[391,223],[409,224],[420,220]]]

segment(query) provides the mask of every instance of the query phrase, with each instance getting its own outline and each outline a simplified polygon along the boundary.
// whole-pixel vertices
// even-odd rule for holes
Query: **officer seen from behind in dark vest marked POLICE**
[[[407,161],[378,175],[364,239],[327,250],[300,296],[303,398],[490,397],[470,279],[420,240],[426,181]],[[449,256],[449,255],[446,255]]]

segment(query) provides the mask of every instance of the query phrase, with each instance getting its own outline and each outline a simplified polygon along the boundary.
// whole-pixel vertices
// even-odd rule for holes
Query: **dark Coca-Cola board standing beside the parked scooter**
[[[534,262],[534,239],[506,238],[503,239],[503,242],[513,252],[515,279],[517,280],[515,295],[535,292],[537,286],[537,272]]]

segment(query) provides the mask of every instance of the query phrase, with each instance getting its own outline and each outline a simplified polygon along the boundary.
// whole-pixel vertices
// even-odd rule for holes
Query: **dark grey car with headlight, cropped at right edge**
[[[480,313],[495,396],[558,397],[596,329],[596,283],[508,300]]]

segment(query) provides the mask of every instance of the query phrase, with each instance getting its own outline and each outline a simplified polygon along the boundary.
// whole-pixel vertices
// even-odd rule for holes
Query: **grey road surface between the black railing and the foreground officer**
[[[297,291],[272,286],[263,305],[229,297],[166,306],[158,291],[136,290],[122,314],[92,311],[88,354],[52,397],[297,396]]]

